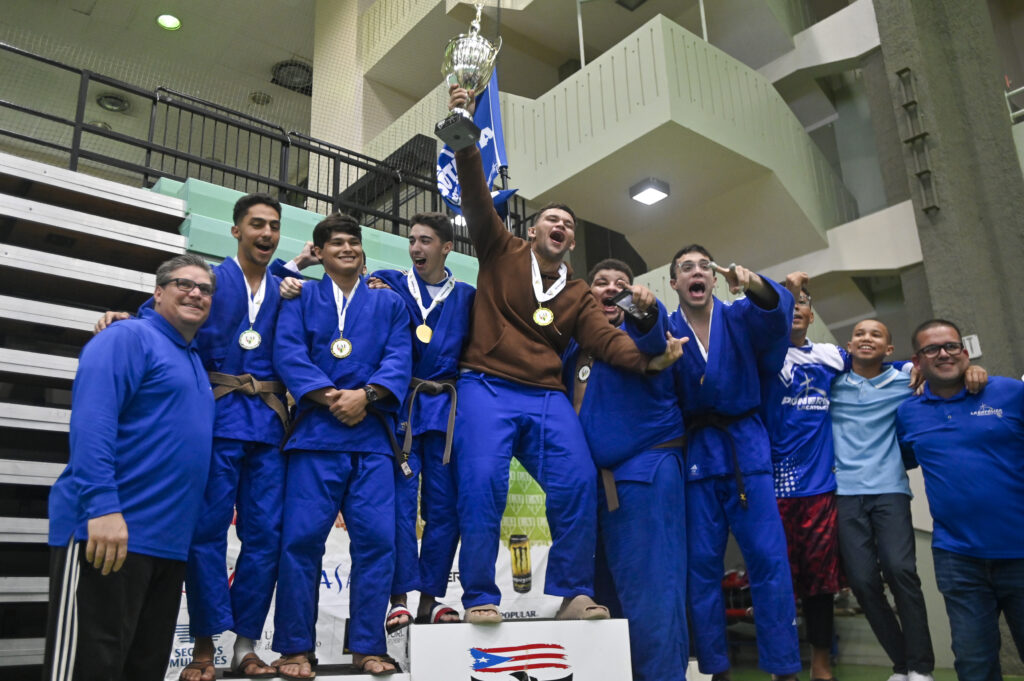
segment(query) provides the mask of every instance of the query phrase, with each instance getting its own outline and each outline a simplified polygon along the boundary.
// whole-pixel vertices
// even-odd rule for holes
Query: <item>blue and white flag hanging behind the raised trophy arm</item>
[[[505,156],[505,133],[502,130],[502,109],[498,99],[498,70],[490,74],[487,89],[476,97],[476,111],[473,113],[473,123],[480,128],[480,140],[476,145],[480,150],[483,170],[487,173],[487,186],[494,189],[495,181],[502,168],[508,167]],[[441,198],[453,211],[462,215],[462,188],[459,186],[459,176],[455,168],[455,152],[447,144],[441,147],[437,157],[437,188]],[[495,209],[505,219],[508,212],[508,200],[517,189],[492,190]]]

